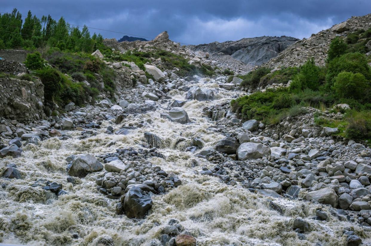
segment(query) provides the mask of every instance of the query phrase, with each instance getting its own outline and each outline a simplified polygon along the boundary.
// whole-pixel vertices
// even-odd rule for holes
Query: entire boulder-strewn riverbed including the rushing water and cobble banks
[[[226,80],[152,81],[49,121],[3,119],[0,242],[370,245],[370,149],[311,117],[240,122],[229,102],[245,92]]]

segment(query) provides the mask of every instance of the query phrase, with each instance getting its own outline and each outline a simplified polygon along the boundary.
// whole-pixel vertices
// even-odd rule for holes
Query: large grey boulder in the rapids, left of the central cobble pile
[[[68,170],[70,176],[83,178],[89,173],[98,172],[103,169],[103,165],[92,154],[76,155],[72,166]]]

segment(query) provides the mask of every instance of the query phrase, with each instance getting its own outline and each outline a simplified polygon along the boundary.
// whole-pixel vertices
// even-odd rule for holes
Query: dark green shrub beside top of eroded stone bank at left
[[[62,77],[54,68],[37,70],[41,82],[44,84],[44,97],[47,101],[53,101],[53,97],[62,90]]]

